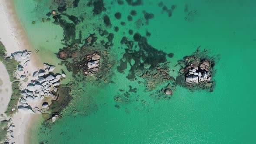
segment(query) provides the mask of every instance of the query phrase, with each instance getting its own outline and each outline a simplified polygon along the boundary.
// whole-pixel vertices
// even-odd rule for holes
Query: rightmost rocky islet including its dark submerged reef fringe
[[[214,75],[213,67],[215,58],[207,55],[207,50],[200,52],[197,49],[191,56],[185,56],[184,60],[179,60],[181,69],[176,78],[176,83],[187,87],[190,90],[208,89],[213,91],[215,83],[212,79]]]

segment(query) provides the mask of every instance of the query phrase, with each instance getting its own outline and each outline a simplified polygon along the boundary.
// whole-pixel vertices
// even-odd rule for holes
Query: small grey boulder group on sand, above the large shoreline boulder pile
[[[30,55],[32,54],[31,51],[24,50],[23,52],[13,52],[11,56],[14,57],[14,59],[17,62],[20,62],[20,65],[27,65],[27,62],[30,61]],[[19,67],[19,69],[22,69],[23,67]]]

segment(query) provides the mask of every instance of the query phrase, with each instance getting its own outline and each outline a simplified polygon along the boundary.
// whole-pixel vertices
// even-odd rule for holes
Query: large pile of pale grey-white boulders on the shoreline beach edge
[[[57,87],[60,85],[61,77],[65,78],[66,74],[54,74],[54,65],[44,63],[45,69],[40,69],[33,73],[33,80],[23,90],[23,98],[20,98],[18,110],[23,113],[40,113],[39,108],[35,107],[33,110],[29,103],[39,102],[45,97],[56,98]],[[47,109],[48,103],[43,102],[42,108]]]

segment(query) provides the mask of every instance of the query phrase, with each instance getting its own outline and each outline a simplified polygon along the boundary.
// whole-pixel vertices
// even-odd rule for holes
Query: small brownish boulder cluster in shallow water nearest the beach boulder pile
[[[85,75],[92,76],[94,72],[98,72],[99,69],[100,55],[97,53],[92,53],[86,57],[86,69],[84,71]]]

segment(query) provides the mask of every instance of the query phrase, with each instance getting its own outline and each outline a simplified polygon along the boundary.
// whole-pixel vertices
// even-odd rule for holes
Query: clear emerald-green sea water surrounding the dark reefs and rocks
[[[162,13],[158,3],[162,1],[170,9],[177,7],[172,16]],[[57,65],[60,62],[55,53],[63,47],[63,29],[50,22],[42,22],[51,6],[50,0],[14,0],[16,12],[26,30],[33,49],[39,49],[36,55],[43,62]],[[256,129],[256,92],[254,82],[254,57],[256,52],[256,18],[254,0],[143,0],[143,5],[132,7],[126,2],[118,5],[117,0],[104,0],[106,12],[92,16],[92,7],[86,7],[87,0],[80,0],[78,7],[68,8],[65,13],[85,18],[84,23],[76,27],[76,33],[82,31],[83,39],[93,29],[102,27],[114,33],[109,52],[115,53],[116,65],[112,65],[115,75],[114,84],[97,86],[91,82],[80,84],[82,91],[77,92],[63,113],[63,118],[52,124],[51,128],[32,128],[31,144],[43,141],[45,144],[164,144],[164,143],[255,143]],[[113,4],[112,4],[113,3]],[[188,12],[184,12],[185,5]],[[130,22],[127,20],[131,10],[137,11]],[[140,19],[145,23],[142,11],[154,13],[149,24],[136,26]],[[121,20],[114,14],[121,12]],[[191,13],[190,13],[191,12]],[[84,14],[86,13],[86,14]],[[110,17],[112,28],[103,26],[102,16]],[[188,14],[190,13],[190,14]],[[185,18],[187,17],[187,20]],[[36,24],[33,25],[32,21]],[[121,26],[120,22],[126,25]],[[114,26],[119,27],[116,33]],[[134,33],[146,35],[148,43],[158,50],[174,53],[167,58],[170,74],[177,75],[178,59],[190,55],[198,46],[208,49],[210,55],[220,55],[214,77],[216,88],[213,92],[189,92],[177,87],[171,100],[156,100],[145,92],[144,84],[126,79],[125,74],[116,69],[124,49],[120,40],[123,36],[132,39],[128,29]],[[125,33],[125,34],[124,34]],[[78,37],[78,34],[77,34]],[[106,39],[98,36],[98,40]],[[48,41],[48,42],[47,42]],[[58,67],[65,69],[65,67]],[[68,73],[70,79],[71,73]],[[63,83],[68,83],[69,79]],[[115,108],[113,97],[119,89],[138,88],[130,92],[131,101]],[[165,86],[166,84],[164,84]],[[136,100],[137,99],[137,100]],[[146,101],[143,104],[141,101]],[[126,109],[126,110],[125,110]],[[72,111],[78,114],[73,115]],[[39,123],[37,123],[39,124]]]

